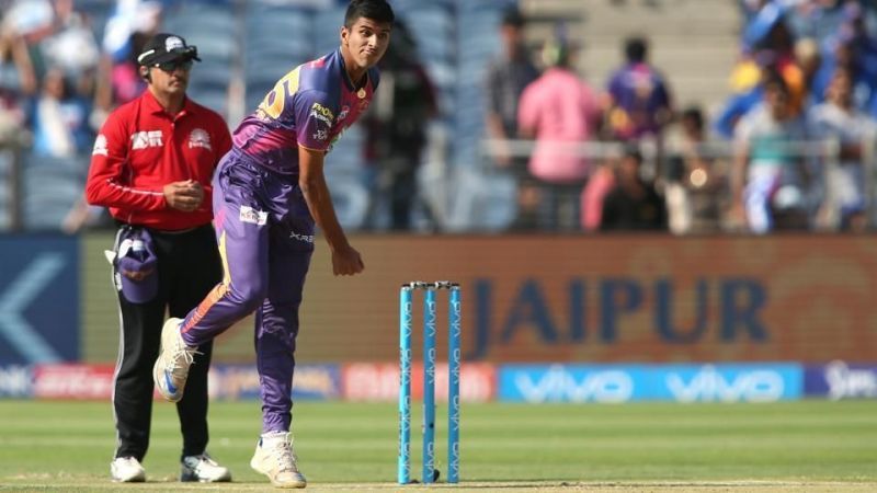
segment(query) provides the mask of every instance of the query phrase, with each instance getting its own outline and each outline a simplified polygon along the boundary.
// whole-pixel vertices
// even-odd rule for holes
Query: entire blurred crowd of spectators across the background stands
[[[738,2],[739,56],[715,114],[677,107],[647,37],[624,42],[606,81],[585,81],[577,33],[558,23],[534,46],[526,16],[505,10],[483,128],[492,165],[515,182],[506,229],[872,229],[877,7]],[[23,141],[33,157],[88,156],[109,112],[144,90],[135,58],[173,0],[104,3],[96,22],[73,0],[0,0],[0,142]],[[437,221],[418,173],[442,107],[412,30],[394,35],[363,122],[365,230],[412,229],[413,209]],[[81,213],[68,230],[93,221]]]

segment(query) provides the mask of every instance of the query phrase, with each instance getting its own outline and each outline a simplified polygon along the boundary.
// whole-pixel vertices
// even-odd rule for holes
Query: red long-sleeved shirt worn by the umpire
[[[129,225],[166,231],[205,225],[213,219],[213,172],[230,148],[228,126],[216,112],[186,96],[183,110],[170,115],[144,91],[111,113],[101,128],[86,198]],[[185,180],[204,187],[204,202],[192,213],[164,202],[164,185]]]

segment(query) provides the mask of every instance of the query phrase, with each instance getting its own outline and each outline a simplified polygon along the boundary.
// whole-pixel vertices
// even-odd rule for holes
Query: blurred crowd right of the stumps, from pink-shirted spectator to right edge
[[[617,70],[592,84],[572,68],[578,47],[562,25],[531,54],[526,19],[508,11],[486,128],[496,164],[519,176],[513,228],[870,229],[877,8],[739,4],[731,94],[714,116],[674,105],[647,38],[626,39]]]

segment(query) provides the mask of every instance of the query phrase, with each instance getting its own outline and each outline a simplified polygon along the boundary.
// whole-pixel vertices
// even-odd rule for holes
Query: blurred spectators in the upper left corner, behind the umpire
[[[105,26],[73,0],[3,0],[0,20],[0,127],[30,130],[30,151],[88,153],[109,112],[139,94],[139,46],[161,23],[163,4],[119,0]]]

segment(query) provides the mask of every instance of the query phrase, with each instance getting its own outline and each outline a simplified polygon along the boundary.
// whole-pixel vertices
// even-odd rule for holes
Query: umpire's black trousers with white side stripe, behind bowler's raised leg
[[[140,461],[149,448],[152,365],[158,357],[166,308],[170,317],[185,317],[221,280],[223,275],[210,225],[185,232],[149,231],[158,257],[158,294],[151,301],[133,303],[118,291],[122,330],[113,391],[117,438],[115,457],[134,457]],[[116,234],[115,251],[118,250],[118,238]],[[115,279],[115,273],[113,276]],[[203,454],[208,440],[207,370],[213,343],[202,345],[198,352],[202,354],[195,356],[191,366],[183,399],[176,403],[183,433],[183,456]]]

